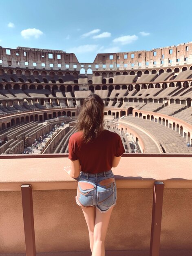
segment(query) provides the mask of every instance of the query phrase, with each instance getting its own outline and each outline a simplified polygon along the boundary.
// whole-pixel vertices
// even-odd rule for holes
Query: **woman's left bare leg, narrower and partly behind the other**
[[[82,207],[82,211],[84,213],[84,217],[87,223],[88,231],[89,231],[89,244],[90,250],[93,252],[93,232],[95,227],[95,206],[91,207]]]

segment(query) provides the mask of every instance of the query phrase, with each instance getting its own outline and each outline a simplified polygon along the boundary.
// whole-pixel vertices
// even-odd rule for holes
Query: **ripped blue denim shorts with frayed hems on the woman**
[[[76,202],[80,206],[95,206],[106,212],[115,205],[117,189],[113,172],[84,173],[79,176]]]

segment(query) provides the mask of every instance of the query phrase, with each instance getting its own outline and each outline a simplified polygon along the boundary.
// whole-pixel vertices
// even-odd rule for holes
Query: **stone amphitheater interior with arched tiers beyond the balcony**
[[[0,154],[21,154],[65,123],[41,153],[67,153],[82,101],[102,97],[126,152],[192,153],[192,42],[97,54],[0,47]],[[134,150],[135,149],[135,150]]]

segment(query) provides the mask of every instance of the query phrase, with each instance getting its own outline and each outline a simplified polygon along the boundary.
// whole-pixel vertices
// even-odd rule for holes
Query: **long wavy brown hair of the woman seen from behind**
[[[90,94],[84,99],[79,113],[77,127],[83,131],[85,143],[97,138],[104,128],[104,102],[97,94]]]

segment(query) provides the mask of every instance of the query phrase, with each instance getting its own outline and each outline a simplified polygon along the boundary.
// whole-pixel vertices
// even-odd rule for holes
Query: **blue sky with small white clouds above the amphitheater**
[[[0,46],[131,52],[192,41],[191,0],[0,0]]]

